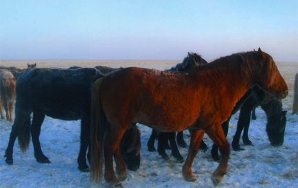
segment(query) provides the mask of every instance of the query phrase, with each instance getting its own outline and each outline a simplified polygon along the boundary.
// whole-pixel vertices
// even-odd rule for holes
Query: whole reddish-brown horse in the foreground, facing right
[[[186,72],[130,67],[97,80],[91,102],[91,180],[99,182],[104,162],[106,182],[121,185],[126,165],[119,143],[130,124],[139,122],[163,132],[191,130],[182,169],[187,181],[196,180],[192,163],[206,132],[222,153],[211,176],[218,185],[227,172],[230,153],[221,124],[255,85],[279,99],[288,94],[273,58],[261,49],[219,58]]]

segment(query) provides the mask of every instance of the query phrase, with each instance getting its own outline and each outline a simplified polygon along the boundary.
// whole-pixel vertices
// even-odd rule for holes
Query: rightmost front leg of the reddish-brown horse
[[[222,155],[217,169],[211,176],[211,180],[214,186],[218,185],[218,183],[220,183],[220,181],[222,180],[222,177],[227,173],[227,164],[230,154],[229,143],[227,141],[227,138],[225,137],[225,133],[222,130],[221,125],[218,124],[216,126],[218,127],[217,129],[214,129],[214,127],[206,129],[206,133],[212,139],[212,141],[214,141],[214,143],[218,145],[218,147],[220,148],[220,154]]]

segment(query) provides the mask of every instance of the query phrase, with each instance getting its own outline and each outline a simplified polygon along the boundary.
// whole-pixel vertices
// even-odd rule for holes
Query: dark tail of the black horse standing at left
[[[25,153],[29,148],[31,133],[30,133],[30,117],[21,125],[20,132],[18,135],[18,142],[21,148],[21,151]]]

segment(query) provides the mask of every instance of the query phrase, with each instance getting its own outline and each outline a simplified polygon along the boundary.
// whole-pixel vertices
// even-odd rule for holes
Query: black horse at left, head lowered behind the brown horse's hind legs
[[[16,117],[10,132],[8,148],[5,151],[5,161],[12,165],[13,146],[16,137],[22,152],[25,152],[30,142],[30,132],[34,145],[34,156],[39,163],[50,163],[43,154],[39,141],[41,126],[45,115],[55,119],[81,119],[80,152],[78,154],[78,169],[89,171],[86,162],[86,152],[89,146],[91,84],[102,74],[93,68],[82,69],[28,69],[18,79],[16,86]],[[30,114],[33,113],[32,124]],[[30,126],[31,124],[31,126]],[[136,129],[132,128],[132,129]],[[132,134],[134,133],[134,134]],[[139,136],[135,132],[127,137]],[[124,141],[125,142],[125,141]],[[129,144],[124,147],[135,149]],[[139,146],[140,147],[140,146]],[[124,152],[126,153],[127,150]],[[131,168],[139,167],[139,154],[130,149],[128,152],[134,158],[128,158]],[[90,154],[87,154],[90,163]],[[130,168],[130,165],[128,165]]]

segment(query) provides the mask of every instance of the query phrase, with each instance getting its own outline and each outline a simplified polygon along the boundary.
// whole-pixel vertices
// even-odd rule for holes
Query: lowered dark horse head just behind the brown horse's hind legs
[[[141,133],[137,126],[132,125],[124,133],[120,144],[120,151],[128,169],[136,171],[139,168],[141,161],[140,150]]]

